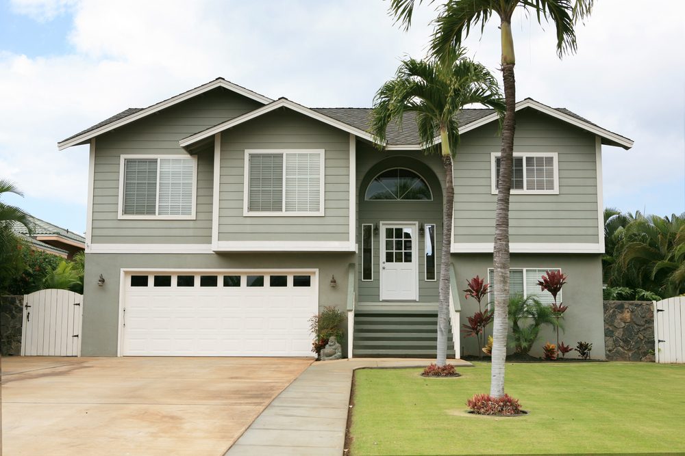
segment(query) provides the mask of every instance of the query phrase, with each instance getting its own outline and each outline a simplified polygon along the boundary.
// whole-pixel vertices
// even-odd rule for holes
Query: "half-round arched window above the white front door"
[[[430,187],[412,170],[393,168],[378,174],[366,187],[366,200],[432,200]]]

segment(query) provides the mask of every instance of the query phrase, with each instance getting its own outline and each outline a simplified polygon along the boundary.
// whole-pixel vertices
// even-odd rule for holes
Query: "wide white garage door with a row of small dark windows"
[[[124,356],[314,356],[315,271],[136,271],[124,280]]]

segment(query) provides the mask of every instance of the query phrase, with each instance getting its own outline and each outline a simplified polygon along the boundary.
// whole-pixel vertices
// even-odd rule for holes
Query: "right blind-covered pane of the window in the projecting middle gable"
[[[286,154],[286,212],[321,209],[321,154]]]

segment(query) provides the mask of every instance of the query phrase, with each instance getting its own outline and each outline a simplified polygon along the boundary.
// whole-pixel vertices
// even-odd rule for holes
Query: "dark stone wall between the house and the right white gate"
[[[610,361],[654,361],[651,301],[604,301],[604,345]]]

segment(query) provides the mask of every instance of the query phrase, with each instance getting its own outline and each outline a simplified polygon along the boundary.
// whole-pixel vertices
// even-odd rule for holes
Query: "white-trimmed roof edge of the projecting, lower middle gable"
[[[216,133],[229,129],[233,126],[240,125],[242,124],[242,122],[247,122],[248,120],[262,116],[263,114],[274,111],[275,109],[278,109],[280,107],[292,109],[292,111],[296,111],[310,118],[320,120],[325,124],[329,124],[331,126],[335,126],[340,130],[347,131],[347,133],[352,133],[353,135],[357,135],[358,137],[369,139],[369,141],[373,140],[371,137],[371,133],[368,133],[362,129],[358,129],[356,126],[352,126],[346,122],[341,122],[340,120],[336,120],[332,117],[325,116],[324,114],[319,113],[314,109],[298,105],[297,103],[288,100],[288,98],[278,98],[278,100],[275,100],[273,103],[269,103],[269,105],[259,107],[254,111],[250,111],[249,113],[243,114],[242,116],[238,116],[234,119],[222,122],[221,124],[211,126],[206,130],[203,130],[199,133],[195,133],[195,135],[185,137],[184,139],[181,139],[179,141],[179,145],[181,147],[190,146],[190,144],[201,141],[202,139],[205,139],[207,137],[216,135]]]

